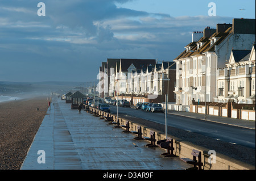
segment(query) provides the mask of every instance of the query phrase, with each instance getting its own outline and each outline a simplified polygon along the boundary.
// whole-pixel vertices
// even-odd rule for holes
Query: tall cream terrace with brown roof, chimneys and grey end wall
[[[225,68],[232,48],[251,49],[255,41],[255,19],[233,19],[233,24],[216,27],[205,28],[202,37],[188,44],[174,60],[177,64],[174,92],[179,107],[189,108],[193,99],[214,102],[220,88],[218,69]]]

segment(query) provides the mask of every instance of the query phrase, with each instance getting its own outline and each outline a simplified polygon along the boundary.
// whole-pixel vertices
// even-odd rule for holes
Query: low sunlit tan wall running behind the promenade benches
[[[138,127],[142,128],[142,136],[144,137],[150,137],[150,132],[155,132],[155,138],[156,141],[164,140],[166,138],[166,133],[163,133],[159,130],[156,130],[154,128],[149,128],[146,125],[138,124],[133,120],[126,119],[123,117],[118,117],[117,115],[114,115],[109,112],[100,111],[96,108],[87,106],[86,111],[89,113],[92,113],[95,116],[104,117],[104,119],[109,119],[115,123],[118,123],[120,125],[125,125],[126,121],[129,121],[130,124],[130,131],[137,131]],[[236,159],[230,158],[226,155],[216,153],[214,154],[214,157],[210,155],[209,149],[204,148],[202,146],[198,146],[195,144],[192,144],[191,142],[181,140],[180,138],[175,137],[174,135],[167,134],[168,137],[171,137],[174,141],[174,154],[177,157],[183,158],[189,158],[193,159],[192,150],[196,149],[198,151],[201,151],[201,161],[203,162],[203,170],[255,170],[255,166],[249,165],[247,163],[243,163],[241,161],[238,161]],[[212,158],[211,161],[209,158]]]

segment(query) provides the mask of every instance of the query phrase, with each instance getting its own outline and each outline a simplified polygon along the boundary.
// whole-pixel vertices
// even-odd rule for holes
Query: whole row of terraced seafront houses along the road
[[[195,31],[184,48],[173,61],[160,64],[102,62],[101,96],[118,95],[136,104],[164,103],[168,95],[170,110],[255,120],[255,19]]]

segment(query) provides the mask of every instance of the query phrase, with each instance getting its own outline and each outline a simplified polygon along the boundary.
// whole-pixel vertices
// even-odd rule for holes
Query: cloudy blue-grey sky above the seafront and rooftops
[[[0,81],[90,82],[107,58],[172,61],[193,31],[233,18],[255,19],[255,1],[0,0]]]

